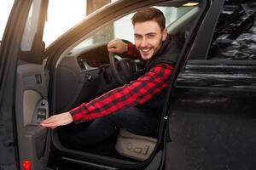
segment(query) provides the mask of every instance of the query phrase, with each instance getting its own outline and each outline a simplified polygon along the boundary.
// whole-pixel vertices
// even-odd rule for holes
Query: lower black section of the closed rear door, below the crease
[[[166,169],[255,169],[255,93],[175,90]]]

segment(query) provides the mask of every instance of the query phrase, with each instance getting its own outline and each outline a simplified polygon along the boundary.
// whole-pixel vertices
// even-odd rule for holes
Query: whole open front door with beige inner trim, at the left
[[[47,3],[48,1],[46,0],[44,2]],[[0,48],[0,108],[1,122],[3,121],[0,127],[0,145],[3,146],[0,151],[0,157],[2,158],[0,169],[23,169],[24,162],[31,163],[31,169],[44,169],[44,165],[46,165],[47,162],[49,147],[46,145],[47,142],[43,140],[43,138],[46,139],[46,129],[32,125],[32,113],[23,115],[26,111],[34,112],[34,110],[36,110],[34,103],[38,102],[39,99],[43,99],[43,96],[47,97],[44,95],[47,92],[47,90],[45,90],[47,88],[46,84],[41,85],[41,88],[34,88],[34,82],[37,81],[32,81],[32,79],[36,79],[35,77],[41,77],[41,81],[45,82],[43,74],[44,67],[40,65],[41,68],[39,70],[38,67],[35,69],[35,65],[26,64],[32,62],[32,60],[27,59],[23,60],[24,65],[20,65],[22,69],[17,68],[17,64],[21,64],[19,59],[22,58],[21,43],[27,43],[27,41],[22,41],[22,37],[29,35],[32,37],[32,44],[38,42],[38,39],[33,39],[33,34],[24,34],[25,28],[27,28],[27,31],[35,31],[34,33],[38,36],[41,35],[38,29],[41,29],[43,27],[42,25],[36,27],[36,29],[31,29],[34,26],[31,24],[37,25],[38,23],[26,21],[32,19],[32,17],[28,17],[30,9],[30,14],[35,16],[35,18],[33,18],[35,20],[33,21],[38,20],[38,11],[45,11],[45,8],[41,8],[42,4],[41,1],[15,1],[4,30]],[[34,10],[32,10],[32,8],[34,8]],[[33,12],[37,12],[37,14]],[[45,15],[41,16],[40,19],[44,20]],[[26,24],[29,24],[29,27],[26,27]],[[36,47],[35,44],[33,47]],[[38,48],[35,48],[35,50],[38,50]],[[38,63],[42,63],[42,55],[31,55],[32,51],[30,49],[26,50],[26,54],[33,57]],[[35,77],[32,77],[32,75]],[[33,99],[35,99],[35,101],[32,101]],[[36,140],[38,141],[37,143],[35,142]],[[40,144],[42,142],[43,144]],[[39,150],[42,148],[41,146],[47,151]]]

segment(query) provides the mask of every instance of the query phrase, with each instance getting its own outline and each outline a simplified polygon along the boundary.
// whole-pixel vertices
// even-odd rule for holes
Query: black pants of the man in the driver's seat
[[[102,142],[116,133],[119,128],[125,128],[138,135],[157,137],[159,123],[160,116],[156,113],[134,107],[102,116],[86,127],[81,128],[79,125],[61,127],[59,136],[62,143],[79,148]]]

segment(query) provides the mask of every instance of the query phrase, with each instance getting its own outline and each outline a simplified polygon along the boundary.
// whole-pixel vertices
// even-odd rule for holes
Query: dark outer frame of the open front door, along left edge
[[[26,27],[26,20],[32,5],[32,0],[15,0],[13,8],[9,15],[9,20],[5,27],[3,34],[3,40],[1,42],[0,50],[0,120],[3,121],[3,126],[0,130],[4,136],[1,136],[1,161],[0,167],[3,169],[21,169],[22,162],[20,162],[19,155],[19,139],[18,139],[18,127],[16,126],[16,71],[17,66],[20,64],[21,58],[20,44],[22,37],[24,36],[24,30]],[[46,2],[46,1],[45,1]],[[40,4],[41,5],[41,4]],[[42,7],[42,5],[41,5]],[[38,25],[37,34],[42,31],[39,28],[44,26]],[[42,31],[43,32],[43,31]],[[38,40],[33,40],[32,46],[35,45]],[[32,50],[31,50],[32,52]],[[33,56],[34,59],[39,56]],[[40,59],[36,59],[40,60]],[[43,60],[43,59],[41,59]],[[3,140],[2,140],[3,138]],[[22,150],[26,150],[22,148]],[[3,154],[3,155],[2,155]]]

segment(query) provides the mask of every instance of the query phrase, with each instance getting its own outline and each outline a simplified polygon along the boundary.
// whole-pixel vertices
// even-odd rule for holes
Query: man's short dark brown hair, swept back
[[[161,31],[166,28],[165,15],[158,8],[143,8],[137,11],[131,18],[133,26],[137,22],[154,20],[160,26]]]

